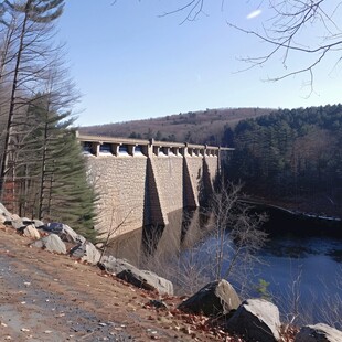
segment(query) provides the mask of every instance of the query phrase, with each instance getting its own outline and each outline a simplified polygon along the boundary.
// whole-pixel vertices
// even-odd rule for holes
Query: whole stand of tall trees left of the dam
[[[0,4],[0,195],[21,216],[89,235],[94,193],[72,129],[78,94],[54,39],[63,8],[64,0]]]

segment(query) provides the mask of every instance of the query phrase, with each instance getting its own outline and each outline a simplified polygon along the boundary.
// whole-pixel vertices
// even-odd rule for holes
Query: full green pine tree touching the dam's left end
[[[78,233],[95,237],[95,195],[86,179],[85,160],[76,140],[75,131],[63,122],[57,126],[58,136],[50,157],[49,201],[42,211],[50,220],[65,222]]]

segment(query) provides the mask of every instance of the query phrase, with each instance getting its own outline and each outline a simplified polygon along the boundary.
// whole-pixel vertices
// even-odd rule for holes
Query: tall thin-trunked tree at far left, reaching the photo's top
[[[12,141],[15,126],[21,125],[20,111],[28,105],[28,98],[40,88],[45,77],[51,54],[53,24],[63,10],[63,0],[55,1],[3,1],[1,3],[1,32],[4,36],[1,54],[1,83],[10,88],[4,147],[1,158],[0,192],[3,192],[4,177],[13,171]],[[24,110],[25,111],[25,110]],[[17,118],[17,119],[15,119]]]

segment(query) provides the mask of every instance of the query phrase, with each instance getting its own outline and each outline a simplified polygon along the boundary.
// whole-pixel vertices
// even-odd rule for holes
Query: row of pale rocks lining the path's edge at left
[[[39,220],[21,218],[11,214],[1,203],[0,223],[12,226],[19,234],[33,239],[34,242],[30,244],[32,247],[43,248],[56,254],[68,254],[79,261],[98,265],[108,274],[139,288],[158,291],[162,295],[173,295],[171,281],[152,271],[140,270],[126,260],[113,256],[101,257],[101,252],[94,244],[66,224],[56,222],[44,224]]]

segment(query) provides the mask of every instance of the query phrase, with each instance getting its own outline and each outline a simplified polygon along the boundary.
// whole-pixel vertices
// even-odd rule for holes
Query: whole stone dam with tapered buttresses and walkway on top
[[[99,233],[111,237],[165,226],[169,214],[210,199],[220,177],[218,148],[203,145],[77,135],[98,195]]]

